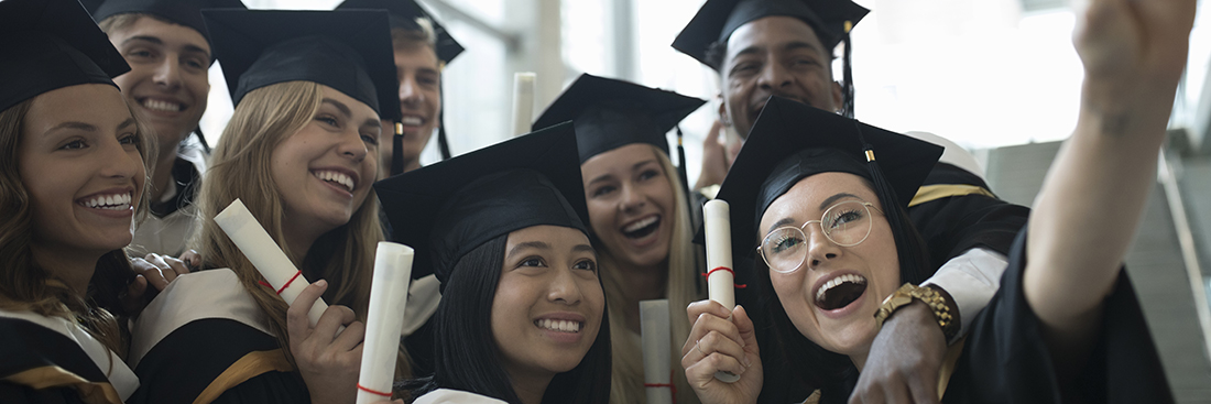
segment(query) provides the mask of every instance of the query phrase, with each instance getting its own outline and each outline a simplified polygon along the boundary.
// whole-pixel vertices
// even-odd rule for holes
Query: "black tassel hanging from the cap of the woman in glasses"
[[[888,219],[891,233],[896,236],[900,266],[905,269],[903,273],[907,275],[907,278],[903,281],[914,284],[920,283],[925,279],[925,271],[931,269],[928,258],[922,254],[924,241],[916,232],[911,231],[907,218],[903,218],[901,214],[903,209],[896,197],[895,187],[883,175],[883,169],[879,167],[878,161],[874,160],[874,148],[862,135],[862,126],[857,125],[857,121],[854,121],[854,128],[857,129],[857,139],[862,143],[866,168],[871,173],[871,185],[874,186],[874,194],[878,194],[879,203],[883,204],[883,214]]]

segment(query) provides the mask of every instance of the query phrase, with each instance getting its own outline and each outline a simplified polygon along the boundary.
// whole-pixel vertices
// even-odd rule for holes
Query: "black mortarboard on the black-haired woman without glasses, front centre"
[[[536,225],[589,235],[570,123],[557,125],[374,184],[395,241],[415,248],[413,277],[449,279],[467,252]]]

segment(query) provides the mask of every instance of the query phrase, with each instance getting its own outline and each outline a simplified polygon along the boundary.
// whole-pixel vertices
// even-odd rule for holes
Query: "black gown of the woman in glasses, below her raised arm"
[[[971,323],[943,403],[1064,403],[1022,292],[1026,231],[1010,250],[1000,290]],[[1106,298],[1097,340],[1069,403],[1172,403],[1172,391],[1131,279],[1120,270]]]

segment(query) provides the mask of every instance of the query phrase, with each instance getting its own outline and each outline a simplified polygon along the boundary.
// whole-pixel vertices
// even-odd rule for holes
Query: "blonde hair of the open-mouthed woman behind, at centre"
[[[685,370],[681,367],[681,342],[689,337],[690,323],[685,317],[685,306],[702,299],[699,292],[699,276],[696,269],[696,249],[693,244],[694,230],[690,223],[689,204],[684,187],[677,175],[677,168],[668,160],[668,156],[656,146],[650,146],[652,152],[660,162],[664,175],[668,178],[668,186],[673,192],[673,235],[668,244],[668,278],[665,287],[665,298],[668,299],[668,322],[671,329],[672,353],[670,360],[673,369],[672,382],[677,386],[677,403],[698,403],[698,397],[685,381]],[[619,278],[616,270],[618,260],[604,247],[597,250],[601,262],[602,283],[606,288],[606,301],[609,311],[610,348],[613,350],[613,369],[610,371],[610,403],[644,403],[647,393],[643,387],[643,350],[629,335],[630,328],[626,325],[625,313],[630,311],[622,305],[622,289],[626,287]],[[679,342],[678,342],[679,341]]]

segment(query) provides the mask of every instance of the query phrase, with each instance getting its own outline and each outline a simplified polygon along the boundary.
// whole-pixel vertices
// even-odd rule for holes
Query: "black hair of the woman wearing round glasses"
[[[874,189],[869,180],[866,184],[872,190]],[[913,227],[903,206],[896,202],[895,192],[876,194],[879,194],[879,202],[883,204],[884,212],[889,213],[885,217],[891,227],[900,259],[900,282],[919,284],[926,279],[925,273],[931,269],[925,241]],[[771,331],[775,336],[775,350],[780,350],[782,353],[770,357],[786,358],[786,365],[799,376],[802,382],[811,388],[819,388],[820,403],[845,403],[857,382],[857,368],[854,367],[849,357],[830,352],[799,333],[786,314],[777,293],[774,292],[769,266],[762,259],[756,259],[753,262],[761,293],[764,296],[762,305],[768,308]]]

